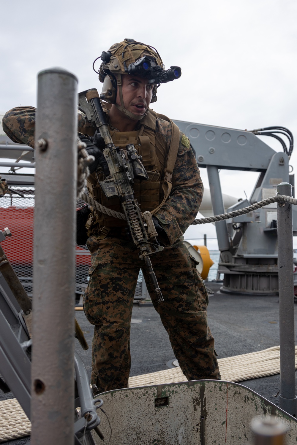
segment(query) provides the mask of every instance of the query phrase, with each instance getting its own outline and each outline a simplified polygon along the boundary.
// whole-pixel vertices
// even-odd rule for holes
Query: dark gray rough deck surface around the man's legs
[[[278,297],[244,296],[217,293],[218,283],[206,283],[215,293],[209,295],[208,323],[215,338],[218,358],[256,352],[279,345]],[[295,305],[295,314],[297,305]],[[93,326],[82,311],[76,317],[91,345]],[[139,376],[168,369],[166,363],[174,359],[167,333],[154,307],[134,305],[132,317],[142,320],[131,324],[131,372]],[[295,315],[296,317],[296,315]],[[91,350],[82,351],[76,340],[76,349],[90,375]],[[278,405],[280,376],[244,381],[244,385]],[[13,398],[13,394],[0,392],[0,399]],[[11,445],[25,444],[29,438],[9,442]]]

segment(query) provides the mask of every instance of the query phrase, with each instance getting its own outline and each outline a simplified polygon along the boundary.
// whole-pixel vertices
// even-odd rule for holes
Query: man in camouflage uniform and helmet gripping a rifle
[[[183,233],[199,210],[203,184],[189,139],[170,119],[149,108],[157,100],[157,85],[143,73],[145,61],[164,68],[155,49],[133,39],[103,52],[101,97],[106,101],[104,109],[114,144],[125,148],[133,143],[149,176],[146,182],[135,180],[133,189],[142,212],[149,210],[154,215],[164,246],[162,252],[151,255],[164,301],[158,303],[152,292],[151,299],[175,357],[188,380],[220,380],[214,339],[207,324],[207,291],[195,259],[183,244]],[[140,65],[142,69],[137,68]],[[132,66],[136,68],[132,70]],[[34,146],[34,115],[32,107],[8,111],[3,118],[4,131],[14,142]],[[94,136],[95,128],[83,113],[79,113],[78,127],[86,150],[95,157],[87,181],[89,194],[121,212],[119,199],[107,200],[98,183],[99,166],[108,174],[100,136]],[[142,261],[125,221],[91,208],[86,228],[92,261],[84,295],[85,315],[94,324],[91,383],[103,392],[128,387],[130,321]],[[143,274],[148,283],[145,270]]]

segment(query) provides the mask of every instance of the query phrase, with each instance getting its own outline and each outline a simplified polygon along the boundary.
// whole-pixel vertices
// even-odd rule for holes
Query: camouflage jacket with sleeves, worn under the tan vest
[[[5,113],[2,126],[13,142],[26,144],[34,148],[35,112],[36,109],[33,107],[17,107]],[[141,122],[138,121],[138,125],[141,125]],[[111,124],[110,129],[117,131]],[[81,112],[78,113],[78,130],[84,134],[94,134],[94,125],[88,122]],[[165,146],[169,150],[171,141],[170,123],[157,117],[155,135],[156,138],[165,138]],[[186,147],[182,143],[182,136],[181,133],[172,176],[171,195],[155,214],[167,235],[168,239],[165,240],[165,243],[169,245],[175,243],[193,222],[203,196],[203,184],[195,156],[191,147]],[[157,153],[158,157],[164,159],[167,154],[168,151],[167,153]]]

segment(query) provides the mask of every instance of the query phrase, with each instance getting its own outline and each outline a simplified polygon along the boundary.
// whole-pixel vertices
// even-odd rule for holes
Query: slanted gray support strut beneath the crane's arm
[[[212,210],[215,215],[220,215],[225,213],[225,209],[220,184],[219,169],[216,166],[207,166],[206,168],[212,198]],[[230,246],[226,221],[220,221],[219,223],[215,224],[220,251],[229,250]]]

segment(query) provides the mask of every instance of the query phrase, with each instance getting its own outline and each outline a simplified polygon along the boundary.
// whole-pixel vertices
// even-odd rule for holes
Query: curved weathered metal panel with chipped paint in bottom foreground
[[[112,435],[110,445],[194,445],[200,443],[205,418],[205,444],[253,443],[251,421],[276,415],[289,426],[286,444],[297,443],[297,420],[243,385],[222,380],[193,380],[103,392]],[[164,400],[164,403],[162,403]],[[110,437],[102,416],[100,429]],[[97,444],[102,442],[96,438]]]

